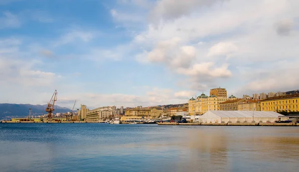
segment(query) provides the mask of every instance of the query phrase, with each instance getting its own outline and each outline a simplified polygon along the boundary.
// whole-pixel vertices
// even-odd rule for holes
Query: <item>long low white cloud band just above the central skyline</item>
[[[59,95],[57,104],[62,106],[71,107],[75,99],[78,100],[78,104],[85,104],[89,108],[96,108],[101,106],[117,107],[136,107],[136,106],[156,106],[173,103],[185,103],[187,97],[181,97],[175,95],[173,90],[165,88],[147,88],[145,94],[122,94],[122,93],[90,93],[90,92],[74,92],[71,95]],[[76,106],[77,107],[77,106]]]

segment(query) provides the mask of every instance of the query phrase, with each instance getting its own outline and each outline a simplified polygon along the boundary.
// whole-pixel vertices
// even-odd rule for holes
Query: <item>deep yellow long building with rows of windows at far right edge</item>
[[[263,111],[299,111],[299,94],[275,96],[261,100]]]

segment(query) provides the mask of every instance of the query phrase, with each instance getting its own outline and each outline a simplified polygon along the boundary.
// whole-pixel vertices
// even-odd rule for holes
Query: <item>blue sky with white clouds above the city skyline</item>
[[[0,0],[0,103],[187,103],[299,89],[298,0]]]

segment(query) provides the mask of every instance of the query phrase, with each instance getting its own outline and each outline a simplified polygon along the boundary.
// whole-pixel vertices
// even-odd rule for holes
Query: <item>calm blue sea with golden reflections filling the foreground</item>
[[[0,123],[0,171],[299,172],[299,127]]]

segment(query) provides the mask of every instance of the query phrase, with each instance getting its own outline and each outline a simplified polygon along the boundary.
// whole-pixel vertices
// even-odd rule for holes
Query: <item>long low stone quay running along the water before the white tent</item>
[[[158,123],[158,125],[209,125],[209,126],[299,126],[299,123]]]

